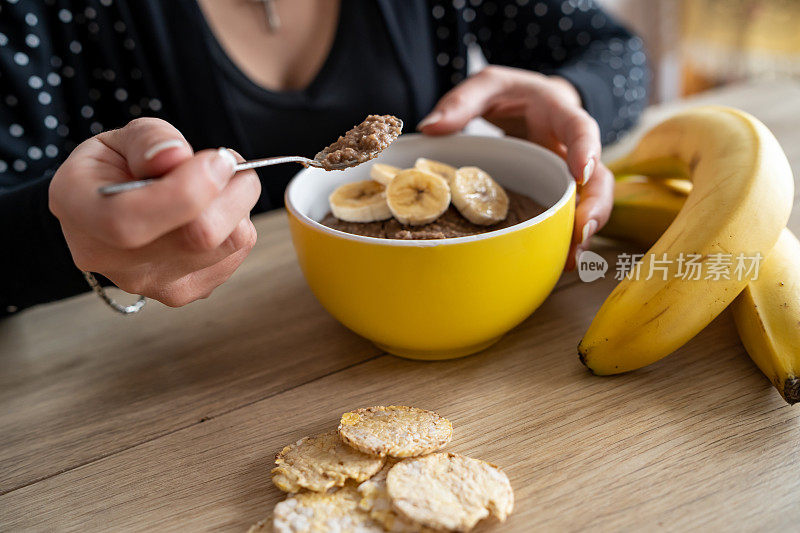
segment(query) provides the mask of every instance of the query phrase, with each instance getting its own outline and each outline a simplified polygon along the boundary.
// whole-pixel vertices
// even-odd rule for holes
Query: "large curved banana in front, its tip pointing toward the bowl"
[[[673,223],[611,293],[578,345],[595,374],[635,370],[670,354],[708,325],[753,277],[683,279],[680,253],[766,255],[792,207],[794,181],[775,137],[754,117],[702,107],[654,127],[617,175],[689,178],[692,191]],[[654,260],[666,258],[666,265]],[[665,274],[653,268],[664,266]],[[647,279],[648,273],[655,275]]]

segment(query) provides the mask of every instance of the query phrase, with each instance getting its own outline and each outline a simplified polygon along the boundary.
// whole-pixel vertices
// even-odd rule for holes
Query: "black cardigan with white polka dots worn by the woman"
[[[379,5],[399,57],[430,43],[439,95],[479,46],[490,63],[572,82],[605,143],[646,103],[642,41],[593,0],[362,1]],[[197,12],[195,0],[0,0],[0,315],[88,289],[47,207],[78,143],[157,116],[195,148],[232,145],[235,128],[213,115],[219,95],[205,90],[208,52],[188,22]],[[415,118],[428,111],[418,102]]]

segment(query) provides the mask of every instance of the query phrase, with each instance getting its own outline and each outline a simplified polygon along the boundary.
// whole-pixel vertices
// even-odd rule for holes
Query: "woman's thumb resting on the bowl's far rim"
[[[420,121],[417,130],[426,135],[456,133],[488,111],[503,90],[500,77],[490,74],[488,68],[450,89]]]

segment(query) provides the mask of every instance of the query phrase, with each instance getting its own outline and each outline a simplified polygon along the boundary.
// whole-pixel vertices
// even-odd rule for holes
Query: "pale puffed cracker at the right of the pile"
[[[514,508],[506,474],[478,459],[442,452],[397,463],[386,476],[394,509],[435,529],[469,531],[489,515],[505,521]]]

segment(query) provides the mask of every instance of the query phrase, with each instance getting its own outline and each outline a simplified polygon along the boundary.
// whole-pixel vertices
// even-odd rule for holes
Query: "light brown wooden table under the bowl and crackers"
[[[800,84],[697,101],[761,118],[800,175]],[[123,318],[87,294],[0,322],[0,530],[243,531],[283,496],[268,473],[284,444],[391,403],[440,411],[452,450],[505,469],[516,511],[494,529],[800,527],[800,407],[727,313],[655,365],[594,377],[575,347],[615,282],[570,274],[491,349],[407,361],[320,307],[284,213],[256,226],[208,300]]]

